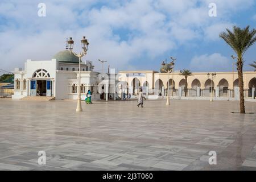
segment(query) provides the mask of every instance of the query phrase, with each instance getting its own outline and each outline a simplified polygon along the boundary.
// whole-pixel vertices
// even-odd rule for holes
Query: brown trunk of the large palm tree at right
[[[240,113],[245,114],[245,98],[243,96],[243,61],[237,61],[238,85],[240,90]]]

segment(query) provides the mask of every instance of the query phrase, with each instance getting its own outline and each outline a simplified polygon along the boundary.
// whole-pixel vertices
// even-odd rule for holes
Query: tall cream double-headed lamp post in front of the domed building
[[[77,107],[76,107],[76,111],[77,112],[81,112],[82,111],[82,106],[81,106],[81,58],[82,56],[85,56],[88,50],[88,46],[89,46],[89,42],[88,40],[85,38],[85,36],[82,37],[81,40],[81,46],[82,46],[82,52],[80,52],[79,54],[73,52],[73,46],[74,46],[74,41],[72,40],[72,38],[69,38],[68,40],[68,49],[70,52],[72,52],[76,57],[79,57],[79,87],[77,90]]]

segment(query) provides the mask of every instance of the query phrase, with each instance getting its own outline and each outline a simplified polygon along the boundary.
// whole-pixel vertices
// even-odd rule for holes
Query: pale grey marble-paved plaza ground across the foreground
[[[256,114],[231,114],[236,101],[165,102],[83,102],[78,114],[76,101],[1,99],[0,169],[256,170]]]

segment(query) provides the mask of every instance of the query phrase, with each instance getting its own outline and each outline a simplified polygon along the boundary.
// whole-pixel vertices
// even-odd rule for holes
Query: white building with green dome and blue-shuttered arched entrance
[[[92,61],[81,63],[81,97],[87,91],[93,93],[92,100],[99,100],[97,76]],[[56,100],[77,99],[79,58],[66,50],[57,53],[52,60],[27,60],[24,70],[15,68],[14,95],[19,99],[28,96],[47,96]]]

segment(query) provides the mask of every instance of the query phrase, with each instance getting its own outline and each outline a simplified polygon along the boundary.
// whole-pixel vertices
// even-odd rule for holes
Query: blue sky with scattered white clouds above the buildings
[[[39,3],[46,5],[46,16],[38,15]],[[210,3],[216,16],[209,16]],[[0,69],[24,68],[27,59],[51,60],[69,37],[80,52],[86,36],[90,44],[82,60],[93,61],[94,71],[101,71],[98,59],[117,71],[159,71],[171,56],[176,70],[232,71],[234,52],[218,35],[255,24],[255,0],[1,0]],[[244,70],[253,71],[253,61],[256,45],[245,54]]]

